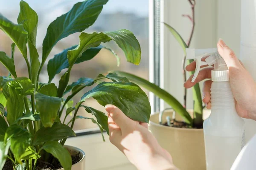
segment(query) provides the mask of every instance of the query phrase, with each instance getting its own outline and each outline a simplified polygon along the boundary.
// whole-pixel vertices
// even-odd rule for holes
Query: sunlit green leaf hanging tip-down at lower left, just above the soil
[[[21,155],[30,145],[31,138],[29,131],[17,124],[11,125],[5,134],[5,141],[9,140],[11,141],[11,150],[15,155],[16,161],[21,163]]]

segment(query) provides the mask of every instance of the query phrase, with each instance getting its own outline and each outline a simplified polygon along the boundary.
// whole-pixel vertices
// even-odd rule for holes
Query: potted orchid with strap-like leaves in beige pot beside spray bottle
[[[195,27],[195,0],[189,0],[192,8],[192,16],[183,15],[192,21],[192,30],[189,41],[186,43],[178,32],[164,23],[173,34],[177,42],[181,45],[186,54],[189,48]],[[186,55],[185,55],[186,56]],[[185,74],[185,58],[183,59],[183,76]],[[189,60],[191,63],[193,60]],[[159,88],[145,79],[122,71],[114,71],[119,76],[127,77],[131,82],[135,82],[141,87],[153,92],[160,99],[163,99],[172,107],[171,111],[154,113],[150,118],[149,129],[157,138],[160,145],[172,155],[175,166],[181,170],[205,170],[205,150],[203,133],[203,105],[199,84],[193,87],[194,109],[186,109],[186,89],[184,93],[184,105],[175,99],[167,91]],[[191,72],[190,74],[194,74]],[[175,114],[177,113],[177,114]]]

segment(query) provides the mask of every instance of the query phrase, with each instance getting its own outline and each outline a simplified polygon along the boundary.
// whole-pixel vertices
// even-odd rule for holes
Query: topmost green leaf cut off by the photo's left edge
[[[0,14],[0,29],[3,30],[19,48],[21,54],[27,61],[27,37],[28,33],[24,30],[23,25],[14,24],[2,14]]]

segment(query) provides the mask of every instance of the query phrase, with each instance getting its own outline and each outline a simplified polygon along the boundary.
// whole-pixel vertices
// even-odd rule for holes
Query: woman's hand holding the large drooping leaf
[[[139,170],[174,170],[171,155],[148,131],[147,123],[134,121],[116,106],[106,105],[109,139]]]

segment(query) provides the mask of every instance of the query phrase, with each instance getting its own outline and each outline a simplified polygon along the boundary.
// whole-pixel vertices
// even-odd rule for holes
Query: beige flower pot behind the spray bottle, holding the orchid
[[[166,122],[166,116],[172,118],[172,113],[164,112],[163,122]],[[176,119],[182,120],[178,114]],[[172,155],[173,163],[180,170],[206,170],[203,129],[163,126],[159,124],[159,113],[155,113],[150,117],[149,130]]]

